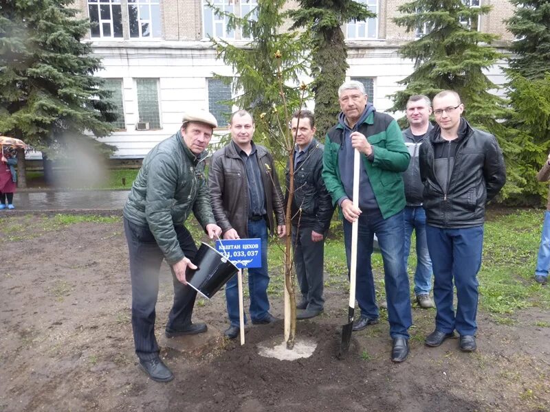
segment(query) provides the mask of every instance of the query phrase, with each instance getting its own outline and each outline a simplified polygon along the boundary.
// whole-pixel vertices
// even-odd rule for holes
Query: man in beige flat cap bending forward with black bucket
[[[206,332],[192,323],[197,292],[186,282],[186,268],[196,268],[195,241],[184,226],[192,211],[210,238],[221,235],[216,225],[204,176],[206,147],[217,127],[207,111],[184,114],[177,133],[161,141],[145,157],[124,205],[132,283],[132,328],[140,367],[158,382],[174,376],[159,358],[155,339],[155,304],[162,260],[172,269],[174,304],[166,336]]]

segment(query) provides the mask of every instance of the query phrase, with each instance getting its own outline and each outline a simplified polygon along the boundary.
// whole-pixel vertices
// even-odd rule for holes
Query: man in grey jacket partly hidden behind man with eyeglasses
[[[430,298],[432,288],[432,261],[426,242],[426,211],[422,206],[424,185],[420,179],[419,148],[433,126],[430,123],[432,102],[425,95],[410,96],[406,106],[409,128],[403,130],[403,139],[410,153],[408,169],[403,174],[405,184],[405,267],[408,267],[410,237],[416,232],[417,268],[415,270],[415,296],[421,308],[433,308]]]

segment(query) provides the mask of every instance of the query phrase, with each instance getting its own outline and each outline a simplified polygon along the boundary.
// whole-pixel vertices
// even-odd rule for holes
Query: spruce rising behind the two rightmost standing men
[[[498,36],[470,27],[490,9],[489,5],[470,8],[461,0],[415,0],[399,6],[403,15],[394,19],[397,25],[410,33],[418,27],[428,32],[399,48],[401,56],[413,60],[414,71],[398,82],[405,89],[393,95],[391,111],[404,111],[411,95],[433,98],[439,91],[454,90],[465,106],[465,119],[496,136],[509,166],[518,152],[514,130],[503,122],[511,111],[507,100],[494,94],[498,87],[484,72],[503,58],[491,46]],[[500,196],[518,192],[521,181],[517,168],[507,168],[507,185]]]

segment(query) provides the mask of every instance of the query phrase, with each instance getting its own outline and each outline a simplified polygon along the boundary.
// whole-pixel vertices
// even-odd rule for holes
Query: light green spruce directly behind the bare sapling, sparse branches
[[[298,79],[307,73],[309,55],[305,34],[281,30],[285,23],[281,10],[285,3],[285,0],[258,0],[256,9],[245,16],[223,12],[211,5],[219,16],[228,18],[228,30],[240,30],[243,38],[250,38],[244,47],[210,38],[218,57],[238,74],[234,78],[220,76],[231,82],[236,95],[228,104],[250,111],[256,123],[254,139],[269,146],[278,159],[286,154],[280,139],[281,128],[288,127],[284,124],[278,67],[281,67],[287,110],[292,112],[300,106]]]

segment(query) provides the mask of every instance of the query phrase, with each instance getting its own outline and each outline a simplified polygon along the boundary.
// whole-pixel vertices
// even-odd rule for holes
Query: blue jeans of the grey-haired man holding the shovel
[[[404,264],[403,238],[405,225],[403,211],[387,219],[380,212],[363,212],[359,217],[358,253],[355,297],[362,317],[377,318],[373,268],[374,235],[378,238],[382,260],[384,261],[384,281],[388,301],[388,321],[390,336],[408,339],[408,328],[412,325],[408,275]],[[351,223],[344,219],[344,242],[348,268],[351,264]]]

